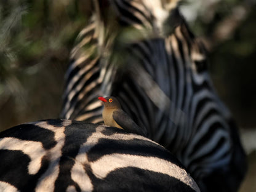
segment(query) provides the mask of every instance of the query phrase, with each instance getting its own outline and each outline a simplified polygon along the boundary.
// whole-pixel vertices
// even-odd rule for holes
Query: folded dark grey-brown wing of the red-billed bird
[[[139,127],[130,116],[122,110],[116,110],[113,112],[113,119],[124,130],[127,130],[133,134],[146,136],[146,129]]]

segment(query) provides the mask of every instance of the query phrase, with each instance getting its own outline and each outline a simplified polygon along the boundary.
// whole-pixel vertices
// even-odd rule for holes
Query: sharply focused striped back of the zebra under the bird
[[[49,119],[0,133],[0,191],[200,191],[164,147],[116,127]]]

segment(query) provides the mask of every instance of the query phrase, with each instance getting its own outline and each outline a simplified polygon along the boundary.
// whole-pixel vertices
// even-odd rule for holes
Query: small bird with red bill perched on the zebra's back
[[[102,117],[105,126],[118,127],[133,134],[146,136],[145,127],[139,127],[130,116],[124,112],[116,97],[98,97],[103,102]]]

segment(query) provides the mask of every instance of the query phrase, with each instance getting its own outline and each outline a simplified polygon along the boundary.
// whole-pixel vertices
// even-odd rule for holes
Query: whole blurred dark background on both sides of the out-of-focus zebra
[[[0,1],[0,130],[58,118],[63,78],[90,1]],[[256,1],[186,1],[182,12],[209,50],[215,88],[238,122],[256,191]]]

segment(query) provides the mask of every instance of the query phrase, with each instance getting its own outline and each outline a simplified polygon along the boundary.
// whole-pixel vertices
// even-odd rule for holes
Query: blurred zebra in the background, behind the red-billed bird
[[[94,1],[70,55],[61,117],[103,122],[96,98],[114,95],[202,191],[237,191],[247,169],[238,128],[178,2]]]

